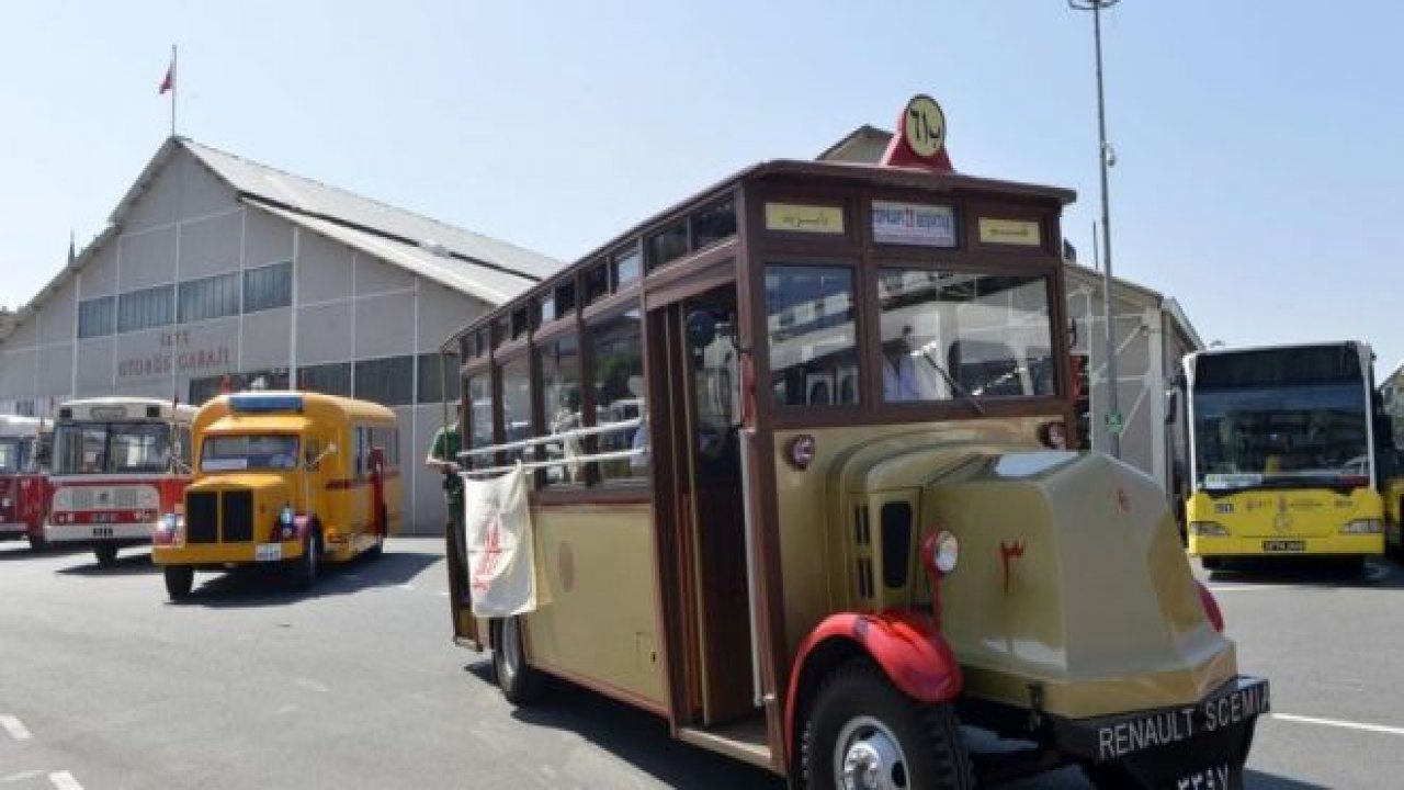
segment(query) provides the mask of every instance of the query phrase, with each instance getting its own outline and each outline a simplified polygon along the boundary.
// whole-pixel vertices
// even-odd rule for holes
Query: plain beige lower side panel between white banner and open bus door
[[[538,610],[534,665],[664,708],[649,505],[534,507]]]

